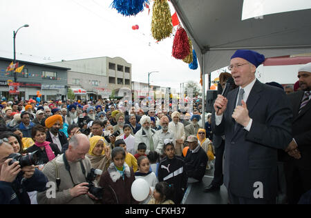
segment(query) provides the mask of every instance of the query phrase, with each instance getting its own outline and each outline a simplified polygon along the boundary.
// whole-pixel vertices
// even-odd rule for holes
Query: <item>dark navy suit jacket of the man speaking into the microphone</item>
[[[212,123],[214,134],[225,133],[225,186],[234,195],[249,199],[262,187],[263,200],[273,199],[278,190],[277,149],[285,149],[292,140],[290,102],[280,88],[256,80],[246,102],[252,126],[249,132],[241,125],[234,129],[232,113],[238,90],[228,93],[220,125],[214,119]]]

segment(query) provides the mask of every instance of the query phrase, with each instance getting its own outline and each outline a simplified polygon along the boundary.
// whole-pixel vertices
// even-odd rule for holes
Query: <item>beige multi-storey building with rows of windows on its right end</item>
[[[121,57],[97,57],[48,64],[70,68],[68,88],[75,93],[75,99],[106,99],[120,88],[131,89],[132,66]]]

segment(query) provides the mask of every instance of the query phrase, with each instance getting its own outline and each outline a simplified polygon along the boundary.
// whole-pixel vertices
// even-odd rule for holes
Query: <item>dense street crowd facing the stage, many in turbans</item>
[[[144,112],[134,106],[124,111],[125,107],[126,102],[109,99],[2,101],[0,150],[12,147],[10,151],[21,157],[35,154],[34,163],[25,167],[41,177],[37,182],[55,182],[57,191],[54,198],[48,198],[48,189],[33,183],[38,188],[23,188],[20,199],[12,186],[6,194],[14,195],[14,201],[12,196],[1,197],[1,203],[180,204],[187,184],[201,181],[210,166],[207,150],[211,150],[211,141],[202,129],[202,103],[194,103],[193,115],[153,108]],[[3,172],[19,166],[9,164],[7,153],[1,152],[2,157]],[[91,169],[102,173],[88,181]],[[25,169],[14,172],[21,181]],[[144,178],[150,185],[149,196],[142,202],[131,196],[135,178]],[[92,195],[88,182],[102,188],[102,196]],[[2,192],[5,186],[0,184]]]

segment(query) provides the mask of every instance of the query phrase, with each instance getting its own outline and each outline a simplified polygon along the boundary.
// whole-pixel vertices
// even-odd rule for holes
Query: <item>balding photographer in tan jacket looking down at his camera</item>
[[[70,138],[68,150],[46,164],[43,172],[48,181],[55,184],[56,190],[52,186],[38,192],[39,204],[94,204],[86,182],[87,174],[91,172],[91,161],[86,157],[89,148],[86,135],[74,135]],[[49,192],[55,192],[55,197],[49,197]]]

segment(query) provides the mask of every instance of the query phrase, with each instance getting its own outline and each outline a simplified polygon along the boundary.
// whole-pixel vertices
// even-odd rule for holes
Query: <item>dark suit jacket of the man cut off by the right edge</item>
[[[311,170],[311,100],[298,113],[304,92],[293,92],[288,95],[290,99],[293,118],[292,118],[292,137],[298,145],[301,152],[301,159],[294,159],[283,152],[283,161],[292,161],[292,163],[301,168]]]

